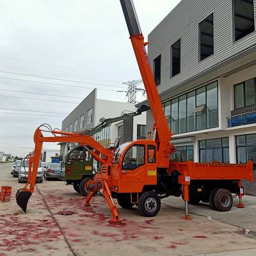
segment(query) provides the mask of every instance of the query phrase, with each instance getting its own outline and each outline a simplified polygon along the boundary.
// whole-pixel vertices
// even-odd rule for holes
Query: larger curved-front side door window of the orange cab
[[[145,146],[133,145],[125,153],[123,170],[134,170],[143,164],[145,164]]]

